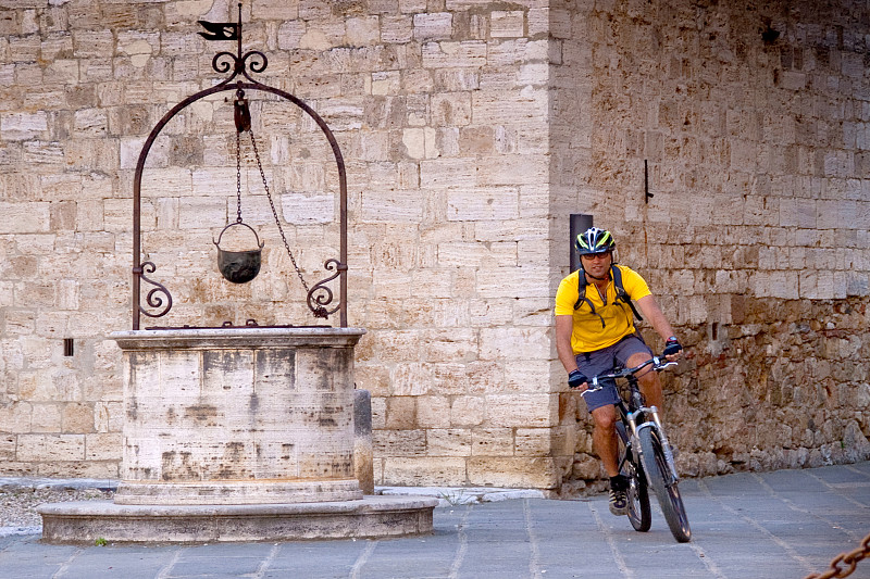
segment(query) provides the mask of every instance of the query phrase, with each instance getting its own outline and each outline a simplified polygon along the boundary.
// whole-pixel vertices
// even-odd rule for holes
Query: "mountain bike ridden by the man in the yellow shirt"
[[[647,366],[660,372],[676,362],[654,356],[633,368],[599,374],[589,380],[589,388],[581,393],[600,390],[605,383],[625,380],[627,400],[617,406],[617,433],[619,440],[619,470],[629,479],[629,521],[636,531],[646,532],[652,523],[649,508],[649,488],[656,494],[661,513],[674,539],[685,543],[692,539],[688,517],[680,495],[680,477],[673,452],[664,433],[656,406],[646,406],[637,386],[637,373]]]

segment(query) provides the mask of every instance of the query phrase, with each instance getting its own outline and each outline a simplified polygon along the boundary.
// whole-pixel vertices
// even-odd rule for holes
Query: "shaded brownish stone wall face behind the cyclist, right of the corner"
[[[680,467],[866,458],[866,7],[560,10],[554,229],[572,212],[613,229],[687,344],[666,380]],[[581,480],[599,474],[585,430]]]

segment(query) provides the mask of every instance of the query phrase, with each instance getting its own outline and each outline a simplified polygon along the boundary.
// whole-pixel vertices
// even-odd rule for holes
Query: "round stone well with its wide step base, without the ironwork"
[[[432,530],[434,499],[355,478],[359,328],[134,330],[114,502],[42,505],[48,542],[243,541]]]

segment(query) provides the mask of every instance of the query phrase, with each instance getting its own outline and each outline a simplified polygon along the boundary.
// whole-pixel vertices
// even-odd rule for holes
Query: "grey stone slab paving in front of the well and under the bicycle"
[[[445,502],[433,533],[402,539],[58,546],[5,536],[0,577],[797,579],[870,532],[870,463],[687,479],[681,490],[693,528],[684,544],[657,507],[638,533],[604,495],[506,496]],[[870,561],[852,577],[870,577]]]

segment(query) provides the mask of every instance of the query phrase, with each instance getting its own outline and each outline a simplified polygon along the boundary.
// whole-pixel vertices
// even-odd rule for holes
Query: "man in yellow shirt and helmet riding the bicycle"
[[[584,392],[587,377],[609,372],[614,365],[637,366],[652,357],[634,327],[632,302],[664,340],[664,356],[676,360],[683,347],[661,312],[646,281],[636,272],[613,261],[616,241],[610,231],[592,227],[574,240],[580,269],[559,284],[556,292],[556,350],[568,372],[568,386]],[[639,316],[638,316],[639,317]],[[637,377],[647,404],[661,414],[662,394],[658,374]],[[614,383],[583,397],[593,417],[593,445],[610,477],[610,512],[627,512],[627,480],[619,474]]]

